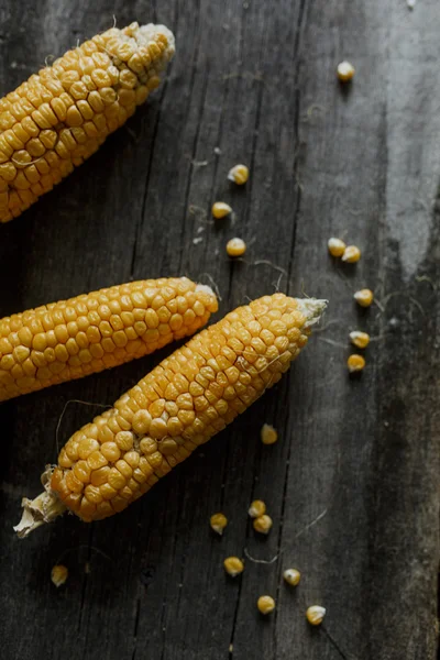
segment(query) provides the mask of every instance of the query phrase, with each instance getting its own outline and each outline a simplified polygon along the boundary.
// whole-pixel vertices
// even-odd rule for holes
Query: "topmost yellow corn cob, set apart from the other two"
[[[164,25],[112,28],[0,99],[0,222],[95,153],[160,85],[174,51]]]

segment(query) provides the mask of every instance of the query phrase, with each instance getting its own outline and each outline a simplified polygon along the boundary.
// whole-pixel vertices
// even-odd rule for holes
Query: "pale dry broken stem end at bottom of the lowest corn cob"
[[[23,497],[21,501],[24,510],[20,522],[13,528],[20,539],[25,539],[31,531],[34,531],[34,529],[37,529],[45,522],[52,522],[66,510],[63,502],[51,491],[52,472],[53,466],[48,465],[42,474],[42,482],[45,487],[43,493],[34,499]]]

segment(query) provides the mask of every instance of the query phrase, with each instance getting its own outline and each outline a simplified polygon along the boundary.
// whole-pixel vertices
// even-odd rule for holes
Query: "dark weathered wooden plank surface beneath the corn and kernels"
[[[69,399],[112,403],[166,352],[1,405],[4,660],[432,660],[439,561],[440,8],[418,0],[3,0],[1,91],[133,20],[176,34],[166,82],[87,164],[0,227],[0,315],[127,282],[217,283],[220,314],[275,290],[330,299],[320,332],[252,411],[124,514],[12,525],[56,455]],[[353,85],[336,66],[349,58]],[[218,147],[220,152],[215,152]],[[249,164],[244,188],[226,175]],[[237,220],[210,218],[230,202]],[[242,237],[231,263],[226,241]],[[354,268],[327,240],[359,244]],[[201,239],[201,241],[195,241]],[[264,262],[264,263],[263,263]],[[272,262],[280,270],[268,265]],[[284,274],[285,273],[285,274]],[[370,286],[364,314],[352,293]],[[220,314],[217,318],[220,317]],[[348,332],[374,338],[348,378]],[[168,349],[169,350],[169,349]],[[59,441],[97,408],[72,404]],[[263,447],[263,422],[280,440]],[[261,497],[267,539],[246,517]],[[222,509],[222,539],[209,516]],[[228,554],[246,560],[226,579]],[[66,585],[51,568],[69,569]],[[282,584],[286,566],[300,586]],[[276,612],[262,619],[258,595]],[[324,626],[305,609],[322,604]]]

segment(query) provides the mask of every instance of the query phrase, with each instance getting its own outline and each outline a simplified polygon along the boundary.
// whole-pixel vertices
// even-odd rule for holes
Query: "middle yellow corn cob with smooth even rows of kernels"
[[[208,286],[175,277],[0,319],[0,402],[152,353],[196,332],[217,307]]]

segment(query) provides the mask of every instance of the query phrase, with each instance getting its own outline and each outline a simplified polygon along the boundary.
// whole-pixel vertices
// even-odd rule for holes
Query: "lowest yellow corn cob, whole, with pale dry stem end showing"
[[[194,337],[67,441],[15,531],[66,508],[85,521],[123,510],[279,381],[324,307],[274,294]]]

